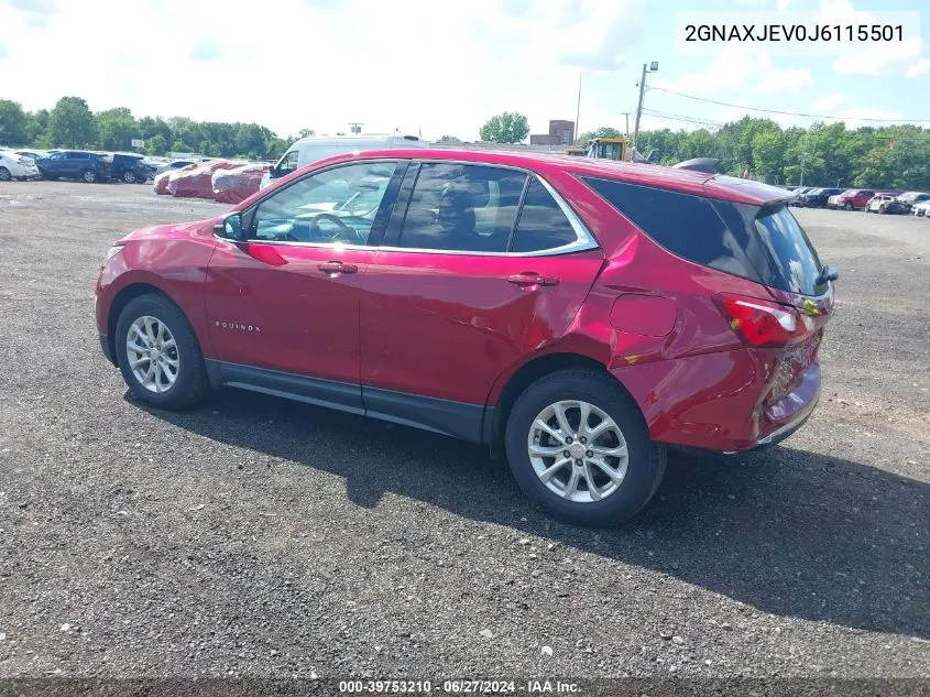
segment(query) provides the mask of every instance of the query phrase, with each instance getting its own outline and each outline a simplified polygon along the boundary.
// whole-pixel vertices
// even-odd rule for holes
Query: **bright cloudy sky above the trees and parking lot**
[[[0,0],[0,98],[35,110],[75,95],[95,111],[254,121],[282,137],[361,122],[370,133],[477,140],[501,111],[526,115],[534,133],[549,119],[573,120],[579,85],[581,131],[624,130],[624,112],[632,129],[642,66],[657,61],[643,129],[745,113],[783,127],[814,121],[742,107],[845,117],[851,128],[865,118],[930,128],[924,0],[703,0],[700,9],[746,21],[817,11],[834,22],[921,6],[908,41],[836,57],[772,55],[765,44],[681,55],[671,18],[696,9],[688,0]]]

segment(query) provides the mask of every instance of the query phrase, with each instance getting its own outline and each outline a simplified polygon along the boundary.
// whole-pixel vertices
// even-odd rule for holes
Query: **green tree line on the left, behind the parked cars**
[[[273,160],[296,138],[278,138],[258,123],[135,118],[124,107],[92,112],[80,97],[62,97],[51,111],[24,111],[18,102],[0,99],[0,145],[139,150],[132,148],[133,140],[145,141],[142,150],[150,155],[197,152],[210,157]]]

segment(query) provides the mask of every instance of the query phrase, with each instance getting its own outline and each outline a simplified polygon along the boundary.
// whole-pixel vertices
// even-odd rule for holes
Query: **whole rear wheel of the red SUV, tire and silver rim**
[[[565,370],[533,383],[511,411],[507,461],[519,488],[579,525],[622,523],[658,489],[665,448],[613,378]]]

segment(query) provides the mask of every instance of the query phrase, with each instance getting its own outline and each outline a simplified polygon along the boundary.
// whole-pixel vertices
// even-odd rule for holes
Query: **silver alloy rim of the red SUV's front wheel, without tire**
[[[177,382],[180,358],[174,335],[157,317],[138,317],[125,337],[125,356],[133,377],[150,392],[167,392]]]

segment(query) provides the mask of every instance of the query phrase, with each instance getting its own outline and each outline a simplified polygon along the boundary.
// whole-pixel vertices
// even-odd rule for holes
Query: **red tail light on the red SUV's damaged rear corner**
[[[786,346],[802,339],[813,328],[810,318],[787,305],[748,297],[716,300],[733,330],[752,346]]]

